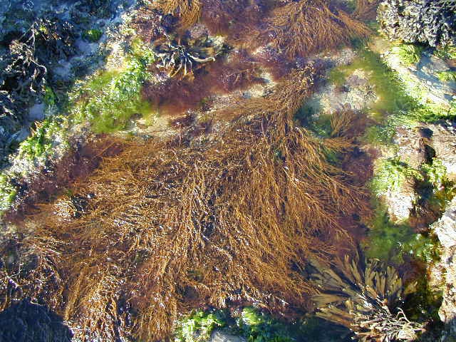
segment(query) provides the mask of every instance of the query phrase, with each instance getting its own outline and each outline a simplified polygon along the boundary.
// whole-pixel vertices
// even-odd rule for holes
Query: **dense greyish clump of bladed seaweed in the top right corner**
[[[378,21],[386,36],[405,43],[455,44],[455,1],[385,0],[378,7]]]

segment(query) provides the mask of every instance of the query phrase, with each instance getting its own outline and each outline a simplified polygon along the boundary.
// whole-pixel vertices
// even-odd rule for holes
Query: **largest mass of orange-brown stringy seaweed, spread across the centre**
[[[341,131],[322,141],[294,123],[315,75],[306,66],[270,97],[232,108],[232,127],[208,145],[125,142],[74,186],[92,195],[70,222],[59,201],[41,206],[28,241],[53,246],[63,279],[44,298],[56,298],[81,338],[131,328],[156,341],[202,304],[250,301],[284,314],[309,306],[315,290],[300,270],[349,252],[356,222],[344,217],[367,208],[366,192],[326,160],[351,140]],[[138,312],[133,326],[121,303]]]

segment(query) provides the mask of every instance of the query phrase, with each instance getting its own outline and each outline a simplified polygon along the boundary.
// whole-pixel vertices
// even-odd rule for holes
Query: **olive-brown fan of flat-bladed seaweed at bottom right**
[[[422,330],[398,306],[403,283],[393,267],[346,256],[314,276],[317,316],[350,328],[359,341],[412,341]]]

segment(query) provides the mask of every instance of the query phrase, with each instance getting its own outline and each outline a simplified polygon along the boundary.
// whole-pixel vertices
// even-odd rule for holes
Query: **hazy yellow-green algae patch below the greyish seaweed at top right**
[[[420,46],[405,45],[396,46],[392,51],[402,58],[403,63],[410,64],[418,63],[422,49]],[[456,118],[454,100],[447,106],[420,101],[425,95],[420,87],[415,87],[413,95],[410,95],[410,91],[405,89],[405,81],[398,73],[393,71],[378,53],[368,48],[361,48],[358,57],[350,65],[333,68],[328,74],[328,81],[335,86],[342,86],[346,78],[358,69],[366,71],[378,97],[368,108],[376,124],[367,128],[364,135],[366,142],[389,145],[396,128],[400,126],[413,128],[418,123]],[[445,73],[445,76],[447,75]]]

